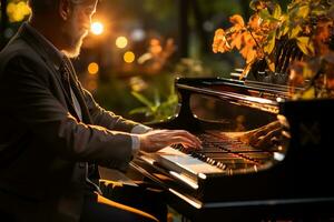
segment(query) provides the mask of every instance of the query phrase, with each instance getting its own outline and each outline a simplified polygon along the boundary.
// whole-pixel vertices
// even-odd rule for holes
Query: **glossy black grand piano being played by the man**
[[[166,190],[173,208],[191,221],[334,215],[333,100],[291,101],[284,85],[232,79],[185,78],[175,85],[180,95],[177,114],[154,127],[185,129],[206,139],[208,152],[186,154],[205,164],[198,172],[187,164],[184,169],[183,159],[168,162],[165,153],[144,153],[132,162],[136,171]],[[222,117],[204,120],[191,103],[197,110],[214,107]],[[261,149],[240,143],[239,137],[228,141],[230,133],[244,135],[277,118],[278,140]]]

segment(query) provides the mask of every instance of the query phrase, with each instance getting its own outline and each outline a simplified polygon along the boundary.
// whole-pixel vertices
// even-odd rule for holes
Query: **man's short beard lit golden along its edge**
[[[68,26],[65,26],[63,38],[67,43],[63,53],[68,58],[77,58],[80,54],[80,49],[85,37],[88,34],[88,31],[78,30],[73,22],[69,22]]]

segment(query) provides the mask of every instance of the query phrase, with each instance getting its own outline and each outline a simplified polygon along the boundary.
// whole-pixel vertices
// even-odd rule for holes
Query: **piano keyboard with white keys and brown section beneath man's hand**
[[[145,153],[141,159],[163,167],[173,176],[203,178],[206,174],[226,173],[257,169],[257,165],[271,159],[272,153],[256,150],[227,134],[198,135],[203,142],[202,150],[189,150],[181,144],[161,149],[156,153]]]

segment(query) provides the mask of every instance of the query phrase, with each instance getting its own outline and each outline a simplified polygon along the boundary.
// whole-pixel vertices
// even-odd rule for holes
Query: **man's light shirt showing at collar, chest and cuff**
[[[51,59],[52,64],[55,65],[55,68],[57,70],[59,70],[65,54],[61,51],[59,51],[46,37],[43,37],[38,30],[36,30],[33,27],[31,27],[28,22],[26,24],[27,24],[27,28],[29,29],[29,31],[31,31],[36,36],[36,38],[38,38],[38,41],[43,46],[46,52],[48,53],[49,58]],[[72,97],[72,100],[73,100],[73,103],[76,107],[76,112],[77,112],[78,117],[80,118],[80,120],[82,120],[81,108],[78,102],[78,99],[75,95],[75,93],[72,92],[72,89],[70,89],[70,91],[71,91],[71,97]],[[144,124],[137,124],[132,128],[131,141],[132,141],[134,155],[136,155],[138,153],[138,150],[140,148],[140,140],[139,140],[139,137],[136,134],[141,134],[141,133],[148,132],[150,130],[153,130],[153,129],[148,128]]]

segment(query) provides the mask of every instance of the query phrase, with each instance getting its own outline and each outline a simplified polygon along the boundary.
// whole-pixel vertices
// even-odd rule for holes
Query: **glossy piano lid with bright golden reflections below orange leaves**
[[[239,105],[278,114],[278,102],[288,99],[288,88],[274,88],[267,83],[246,84],[233,79],[177,79],[178,91],[215,97]]]

